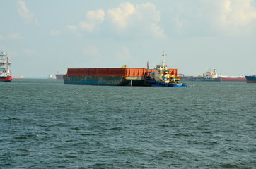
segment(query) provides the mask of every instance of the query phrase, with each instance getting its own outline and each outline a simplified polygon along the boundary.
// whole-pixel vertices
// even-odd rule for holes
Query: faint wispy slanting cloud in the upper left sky
[[[20,15],[21,18],[25,21],[25,23],[28,24],[35,24],[39,25],[38,21],[34,18],[34,14],[30,12],[30,10],[27,8],[26,4],[24,1],[19,0],[17,2],[18,5],[18,14]]]

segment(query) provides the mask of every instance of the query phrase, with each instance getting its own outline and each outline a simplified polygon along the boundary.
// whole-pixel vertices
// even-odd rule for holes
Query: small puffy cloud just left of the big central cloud
[[[103,9],[98,9],[96,11],[88,11],[86,13],[86,20],[81,21],[78,26],[81,30],[86,32],[93,32],[97,25],[103,23],[105,17],[105,12]]]

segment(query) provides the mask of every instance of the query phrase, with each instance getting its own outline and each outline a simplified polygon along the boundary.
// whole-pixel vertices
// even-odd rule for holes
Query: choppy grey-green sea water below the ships
[[[256,168],[256,84],[0,83],[0,168]]]

